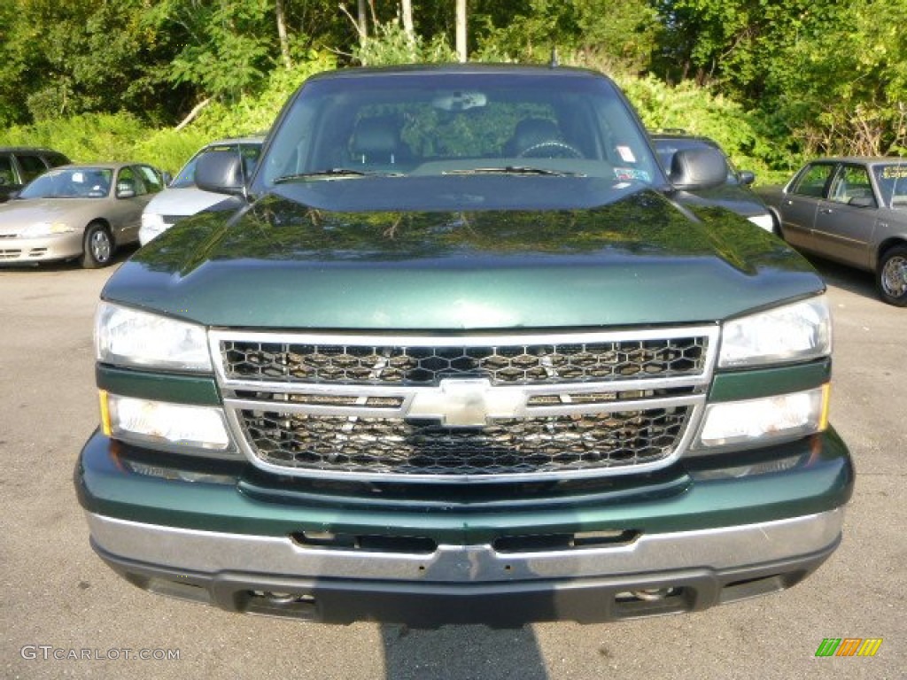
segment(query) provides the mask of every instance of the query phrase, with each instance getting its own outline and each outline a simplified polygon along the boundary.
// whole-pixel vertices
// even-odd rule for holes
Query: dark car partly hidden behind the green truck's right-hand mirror
[[[765,201],[750,189],[749,185],[756,181],[756,175],[749,170],[736,170],[717,141],[682,131],[657,131],[651,133],[651,138],[655,145],[655,152],[658,154],[658,161],[668,176],[677,171],[674,169],[674,158],[678,151],[716,149],[725,156],[728,169],[727,181],[717,187],[683,192],[678,195],[680,202],[727,208],[743,215],[766,231],[775,231],[775,219],[766,207]]]

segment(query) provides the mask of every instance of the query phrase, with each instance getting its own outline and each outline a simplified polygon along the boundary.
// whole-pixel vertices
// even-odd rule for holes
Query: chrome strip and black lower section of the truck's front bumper
[[[843,515],[521,555],[490,545],[439,546],[430,555],[305,549],[290,539],[88,518],[100,557],[161,595],[325,623],[517,627],[696,611],[790,588],[832,554]]]

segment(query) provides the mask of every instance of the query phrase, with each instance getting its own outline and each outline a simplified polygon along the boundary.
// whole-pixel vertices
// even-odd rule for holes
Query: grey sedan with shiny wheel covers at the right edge
[[[813,160],[763,195],[788,243],[874,272],[882,299],[907,306],[907,159]]]

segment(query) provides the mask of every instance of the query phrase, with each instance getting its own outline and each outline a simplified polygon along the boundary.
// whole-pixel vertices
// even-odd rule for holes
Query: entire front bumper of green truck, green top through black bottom
[[[795,585],[841,539],[853,467],[834,432],[773,455],[762,467],[688,461],[621,489],[438,501],[279,488],[248,466],[235,478],[166,457],[135,466],[129,447],[95,434],[76,487],[93,548],[141,588],[330,623],[512,627],[694,611]],[[553,535],[571,539],[536,540]]]

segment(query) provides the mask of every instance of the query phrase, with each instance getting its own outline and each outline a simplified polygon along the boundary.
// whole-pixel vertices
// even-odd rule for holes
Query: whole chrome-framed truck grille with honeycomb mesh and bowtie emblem
[[[551,335],[211,331],[240,447],[268,471],[525,481],[648,471],[696,430],[716,326]]]

